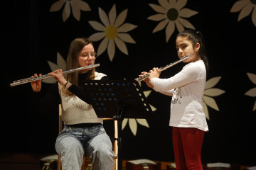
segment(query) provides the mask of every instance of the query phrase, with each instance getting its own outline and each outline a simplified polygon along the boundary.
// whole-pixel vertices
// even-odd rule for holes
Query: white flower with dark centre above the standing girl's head
[[[166,27],[166,42],[168,42],[169,38],[174,33],[175,26],[179,33],[184,30],[183,27],[194,30],[194,26],[184,18],[191,17],[198,12],[183,8],[186,5],[186,2],[187,0],[159,0],[161,6],[149,4],[149,6],[151,6],[154,11],[158,12],[158,14],[149,16],[147,19],[151,21],[161,21],[156,28],[154,28],[153,33]]]

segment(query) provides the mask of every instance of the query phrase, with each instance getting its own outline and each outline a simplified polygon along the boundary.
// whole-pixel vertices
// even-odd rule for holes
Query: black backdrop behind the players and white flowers
[[[89,37],[98,31],[88,21],[100,21],[99,7],[107,14],[115,4],[117,16],[128,9],[124,23],[137,28],[128,31],[136,43],[127,43],[129,55],[115,46],[114,59],[110,61],[107,50],[97,58],[99,72],[110,79],[134,79],[140,72],[152,67],[161,67],[177,60],[174,34],[166,42],[165,28],[152,33],[159,22],[148,18],[156,14],[149,4],[158,1],[86,1],[91,11],[80,11],[80,20],[72,11],[64,22],[63,7],[49,12],[51,1],[8,1],[1,10],[1,90],[4,91],[1,111],[1,151],[54,153],[55,137],[58,135],[58,107],[44,117],[31,111],[31,86],[23,84],[9,87],[17,79],[30,77],[33,73],[50,72],[47,61],[57,63],[57,52],[65,59],[70,42],[74,38]],[[255,30],[252,13],[238,22],[240,13],[230,13],[236,1],[187,1],[184,8],[197,11],[186,18],[196,30],[203,32],[206,41],[210,72],[208,79],[221,77],[214,88],[224,94],[213,97],[219,111],[208,107],[210,120],[203,149],[203,162],[227,162],[256,164],[256,113],[252,111],[255,97],[245,93],[255,88],[247,73],[256,74]],[[254,3],[251,1],[250,3]],[[255,6],[255,4],[253,4]],[[256,7],[254,7],[256,8]],[[255,18],[254,18],[255,19]],[[95,47],[100,45],[95,42]],[[183,64],[167,69],[161,77],[171,77],[181,70]],[[50,84],[43,84],[42,95]],[[150,90],[142,84],[144,91]],[[151,91],[148,96],[159,118],[147,120],[149,128],[137,125],[133,135],[127,125],[123,133],[122,152],[124,159],[152,159],[174,161],[169,127],[171,98]],[[110,136],[112,122],[105,122]]]

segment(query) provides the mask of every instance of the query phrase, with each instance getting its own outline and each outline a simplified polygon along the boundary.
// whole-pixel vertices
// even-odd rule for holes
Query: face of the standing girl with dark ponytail
[[[188,40],[187,37],[178,36],[176,40],[176,49],[178,53],[178,57],[185,57],[187,55],[191,55],[188,59],[183,60],[183,62],[196,62],[197,60],[201,60],[198,52],[199,52],[200,44],[196,43],[195,47],[191,40]]]

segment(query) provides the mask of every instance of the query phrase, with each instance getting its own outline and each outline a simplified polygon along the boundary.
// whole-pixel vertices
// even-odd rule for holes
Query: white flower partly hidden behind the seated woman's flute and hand
[[[50,61],[47,61],[47,62],[52,72],[55,71],[56,69],[62,69],[63,72],[65,71],[66,63],[63,57],[60,55],[60,53],[57,52],[57,64]],[[47,84],[54,84],[56,80],[53,77],[50,77],[48,79],[43,79],[42,82]]]

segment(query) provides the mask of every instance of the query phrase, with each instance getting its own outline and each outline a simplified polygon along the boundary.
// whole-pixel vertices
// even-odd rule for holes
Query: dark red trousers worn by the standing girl
[[[201,149],[203,130],[173,127],[173,145],[176,170],[203,170]]]

